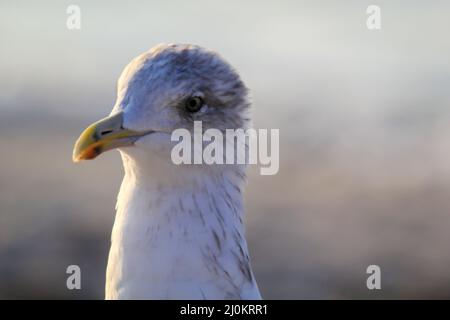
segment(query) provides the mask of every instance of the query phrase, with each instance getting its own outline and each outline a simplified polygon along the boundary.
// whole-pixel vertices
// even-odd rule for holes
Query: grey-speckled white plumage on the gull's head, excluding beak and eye
[[[187,112],[186,99],[198,96],[204,107]],[[217,53],[194,45],[161,44],[135,58],[118,82],[115,110],[129,113],[125,124],[149,129],[154,119],[164,130],[187,128],[201,120],[203,128],[248,126],[248,90],[237,72]],[[113,112],[114,112],[113,111]],[[152,128],[154,129],[154,128]]]

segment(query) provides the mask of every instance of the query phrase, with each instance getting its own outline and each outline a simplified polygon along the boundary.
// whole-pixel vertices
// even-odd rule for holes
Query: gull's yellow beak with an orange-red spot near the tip
[[[131,146],[150,131],[133,131],[123,127],[123,113],[99,120],[83,131],[73,148],[73,161],[94,159],[101,153],[125,146]]]

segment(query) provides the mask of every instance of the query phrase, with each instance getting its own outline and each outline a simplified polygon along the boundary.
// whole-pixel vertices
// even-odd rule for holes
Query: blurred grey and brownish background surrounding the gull
[[[81,29],[66,9],[81,9]],[[381,8],[381,30],[366,9]],[[118,152],[74,165],[81,130],[161,42],[221,53],[280,129],[252,167],[247,235],[265,298],[450,298],[448,1],[1,1],[0,298],[102,299]],[[82,290],[66,288],[66,267]],[[366,287],[381,267],[381,290]]]

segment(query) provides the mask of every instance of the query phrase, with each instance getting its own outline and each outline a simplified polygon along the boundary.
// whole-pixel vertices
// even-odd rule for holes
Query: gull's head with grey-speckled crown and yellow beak
[[[133,59],[118,80],[111,114],[78,138],[75,162],[118,148],[135,162],[170,161],[171,134],[194,121],[203,130],[246,128],[247,88],[217,53],[194,45],[161,44]]]

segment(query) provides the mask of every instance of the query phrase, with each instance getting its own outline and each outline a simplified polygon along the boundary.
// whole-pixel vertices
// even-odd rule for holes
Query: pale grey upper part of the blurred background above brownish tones
[[[66,28],[69,4],[81,9],[80,30]],[[450,83],[448,3],[378,2],[379,31],[366,28],[369,4],[2,2],[0,108],[105,113],[122,68],[161,42],[221,53],[252,90],[261,121],[275,108],[285,120],[311,99],[363,116],[392,108],[396,95],[442,95]],[[109,105],[94,104],[105,98]]]

